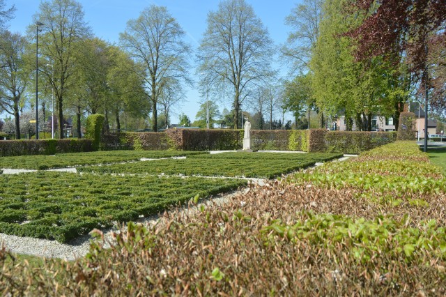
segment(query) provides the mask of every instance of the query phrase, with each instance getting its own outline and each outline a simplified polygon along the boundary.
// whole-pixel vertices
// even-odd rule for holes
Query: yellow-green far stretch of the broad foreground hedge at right
[[[360,197],[378,203],[393,204],[402,199],[424,207],[429,203],[422,197],[446,192],[440,168],[426,161],[427,155],[415,142],[394,142],[367,151],[348,162],[332,162],[318,167],[311,174],[299,174],[291,181],[360,189]]]

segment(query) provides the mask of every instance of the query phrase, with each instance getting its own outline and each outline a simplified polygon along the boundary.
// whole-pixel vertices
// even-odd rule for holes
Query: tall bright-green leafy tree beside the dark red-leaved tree
[[[394,116],[394,94],[403,90],[395,88],[395,75],[382,57],[355,61],[353,41],[345,33],[363,18],[346,13],[346,5],[347,0],[328,0],[323,6],[310,61],[312,91],[318,109],[332,116],[343,111],[360,130],[371,130],[372,116]]]

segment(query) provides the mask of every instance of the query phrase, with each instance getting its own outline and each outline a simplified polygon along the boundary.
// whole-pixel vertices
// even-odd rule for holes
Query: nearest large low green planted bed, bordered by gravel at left
[[[66,242],[245,181],[37,172],[0,176],[0,232]]]

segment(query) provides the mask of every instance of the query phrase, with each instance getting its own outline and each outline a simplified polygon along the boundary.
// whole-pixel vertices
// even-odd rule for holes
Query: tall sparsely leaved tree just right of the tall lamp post
[[[39,10],[33,20],[43,23],[39,49],[45,59],[40,63],[54,63],[54,73],[44,73],[54,88],[59,123],[63,123],[63,100],[70,86],[76,83],[72,79],[76,44],[89,36],[90,28],[84,22],[82,6],[75,0],[43,1]],[[36,25],[29,26],[29,30],[35,32]],[[59,125],[59,137],[63,138],[63,125]]]

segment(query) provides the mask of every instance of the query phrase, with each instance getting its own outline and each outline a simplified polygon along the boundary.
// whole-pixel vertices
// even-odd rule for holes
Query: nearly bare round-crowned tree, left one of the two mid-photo
[[[130,20],[119,39],[132,58],[144,65],[144,81],[152,102],[152,129],[157,131],[157,102],[164,84],[190,83],[187,63],[190,47],[185,32],[164,6],[151,5]]]

